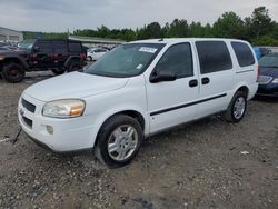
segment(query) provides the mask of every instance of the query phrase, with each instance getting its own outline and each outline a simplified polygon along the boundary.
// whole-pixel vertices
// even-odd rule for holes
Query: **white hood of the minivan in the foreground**
[[[24,93],[41,101],[86,98],[125,87],[129,78],[109,78],[71,72],[38,82]]]

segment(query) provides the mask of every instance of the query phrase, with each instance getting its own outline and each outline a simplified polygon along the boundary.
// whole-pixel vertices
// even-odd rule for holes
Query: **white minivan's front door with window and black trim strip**
[[[176,80],[150,82],[146,78],[150,132],[156,132],[196,117],[193,102],[199,98],[199,77],[189,42],[171,46],[155,67],[151,76],[175,73]]]

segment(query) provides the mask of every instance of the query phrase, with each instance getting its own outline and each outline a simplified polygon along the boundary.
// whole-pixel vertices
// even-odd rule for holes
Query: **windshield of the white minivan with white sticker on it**
[[[148,68],[163,46],[162,43],[121,44],[86,69],[85,72],[119,78],[138,76]]]

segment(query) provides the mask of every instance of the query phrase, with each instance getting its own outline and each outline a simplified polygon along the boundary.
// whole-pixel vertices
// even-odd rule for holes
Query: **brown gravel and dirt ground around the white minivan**
[[[210,117],[152,137],[110,170],[91,152],[51,153],[24,133],[9,141],[20,93],[49,77],[0,80],[0,208],[278,208],[277,100],[250,101],[238,125]]]

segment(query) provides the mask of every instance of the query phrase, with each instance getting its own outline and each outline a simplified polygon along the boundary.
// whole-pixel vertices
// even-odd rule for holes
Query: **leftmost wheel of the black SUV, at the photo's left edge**
[[[23,80],[26,71],[19,63],[8,63],[3,67],[2,77],[8,82],[17,83]]]

